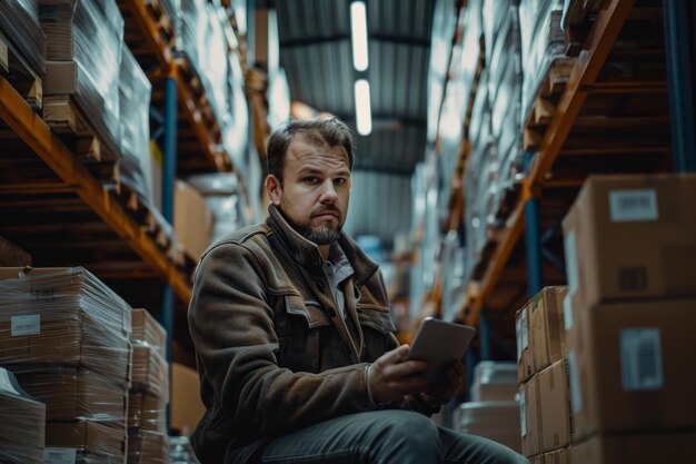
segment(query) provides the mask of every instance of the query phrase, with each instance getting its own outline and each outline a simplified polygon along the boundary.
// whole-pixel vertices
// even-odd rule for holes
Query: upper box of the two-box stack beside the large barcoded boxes
[[[545,287],[516,316],[519,383],[567,355],[563,324],[565,286]]]

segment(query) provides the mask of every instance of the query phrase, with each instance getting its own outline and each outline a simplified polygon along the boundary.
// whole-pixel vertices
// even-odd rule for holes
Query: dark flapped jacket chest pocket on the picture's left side
[[[321,334],[329,325],[316,302],[299,295],[285,295],[276,308],[276,335],[280,348],[278,366],[292,372],[318,373],[321,359]]]

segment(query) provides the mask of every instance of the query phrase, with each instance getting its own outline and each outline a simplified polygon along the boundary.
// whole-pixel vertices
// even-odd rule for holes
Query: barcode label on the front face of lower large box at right
[[[622,385],[625,391],[660,389],[664,386],[659,328],[624,328]]]

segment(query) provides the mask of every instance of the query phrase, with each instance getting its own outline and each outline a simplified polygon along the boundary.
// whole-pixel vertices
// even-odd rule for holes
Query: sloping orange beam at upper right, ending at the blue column
[[[544,182],[583,108],[588,89],[595,83],[634,3],[634,0],[612,0],[606,8],[597,12],[597,20],[587,38],[586,49],[580,51],[575,62],[568,83],[539,144],[539,152],[534,159],[529,175],[530,187],[538,187]]]

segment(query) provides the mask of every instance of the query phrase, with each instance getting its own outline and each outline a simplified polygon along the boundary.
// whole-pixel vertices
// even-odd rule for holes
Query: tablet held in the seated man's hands
[[[407,359],[422,359],[434,366],[426,375],[432,382],[444,379],[445,371],[461,361],[476,328],[426,317],[416,334]]]

